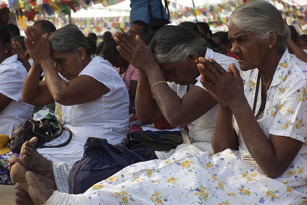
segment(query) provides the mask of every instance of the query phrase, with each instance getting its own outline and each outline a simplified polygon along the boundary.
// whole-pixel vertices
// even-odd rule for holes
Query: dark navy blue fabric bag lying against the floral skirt
[[[88,137],[82,159],[76,161],[69,172],[69,194],[82,194],[131,164],[154,159],[158,157],[153,148],[141,141],[111,145],[106,139]]]

